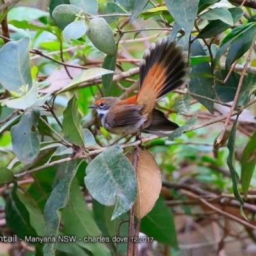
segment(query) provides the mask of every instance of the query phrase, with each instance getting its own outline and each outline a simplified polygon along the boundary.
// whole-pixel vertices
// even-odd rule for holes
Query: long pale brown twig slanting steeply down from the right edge
[[[251,59],[251,56],[252,56],[252,51],[253,51],[253,47],[254,47],[254,45],[255,45],[255,40],[256,40],[256,33],[255,33],[255,35],[253,36],[252,45],[250,46],[250,50],[249,50],[249,53],[248,53],[248,57],[247,57],[246,63],[244,64],[244,69],[243,69],[243,72],[242,72],[242,74],[241,74],[241,77],[240,77],[240,79],[239,79],[239,83],[238,83],[238,86],[237,86],[237,91],[236,91],[236,95],[235,95],[235,97],[234,97],[233,104],[232,104],[232,106],[231,106],[231,108],[230,108],[230,111],[229,111],[229,113],[228,113],[228,115],[227,115],[227,120],[226,120],[226,122],[225,122],[225,124],[224,124],[223,129],[221,130],[220,136],[218,136],[218,138],[217,138],[217,140],[216,140],[216,145],[217,145],[217,144],[220,144],[220,141],[222,140],[222,138],[223,138],[223,136],[224,136],[224,134],[225,134],[225,131],[226,131],[226,129],[227,129],[227,127],[228,127],[228,124],[229,124],[229,122],[230,122],[231,115],[232,115],[232,113],[233,113],[233,111],[234,111],[234,108],[235,108],[235,106],[236,106],[236,102],[237,102],[237,99],[238,99],[238,97],[239,97],[239,93],[240,93],[240,91],[241,91],[242,85],[243,85],[243,81],[244,81],[244,76],[245,76],[245,73],[246,73],[246,69],[247,69],[247,67],[248,67],[248,65],[249,65],[249,62],[250,62],[250,59]]]

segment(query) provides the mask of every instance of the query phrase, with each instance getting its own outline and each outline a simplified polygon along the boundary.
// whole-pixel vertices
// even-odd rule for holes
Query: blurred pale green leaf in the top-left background
[[[20,6],[9,10],[8,20],[33,21],[42,17],[47,17],[48,15],[48,12],[44,12],[38,8]]]

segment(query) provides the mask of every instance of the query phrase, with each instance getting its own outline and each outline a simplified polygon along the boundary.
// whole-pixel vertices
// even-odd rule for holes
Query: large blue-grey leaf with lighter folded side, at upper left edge
[[[0,83],[10,92],[19,92],[22,85],[28,84],[29,89],[32,86],[29,44],[30,39],[26,36],[0,49]]]

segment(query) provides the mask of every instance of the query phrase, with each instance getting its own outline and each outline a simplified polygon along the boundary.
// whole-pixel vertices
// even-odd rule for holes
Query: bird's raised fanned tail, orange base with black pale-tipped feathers
[[[189,83],[189,71],[188,54],[183,51],[182,45],[177,45],[176,41],[168,45],[166,37],[157,40],[145,51],[141,61],[137,102],[146,106],[148,102],[156,102],[179,86]],[[148,108],[154,108],[152,105]]]

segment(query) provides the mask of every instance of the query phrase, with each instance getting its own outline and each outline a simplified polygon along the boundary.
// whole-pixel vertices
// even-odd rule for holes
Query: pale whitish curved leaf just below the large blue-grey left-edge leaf
[[[33,106],[38,97],[38,83],[34,83],[31,89],[24,95],[23,97],[17,99],[10,99],[5,102],[8,108],[15,108],[15,109],[26,109],[30,106]],[[45,99],[46,100],[46,99]]]

